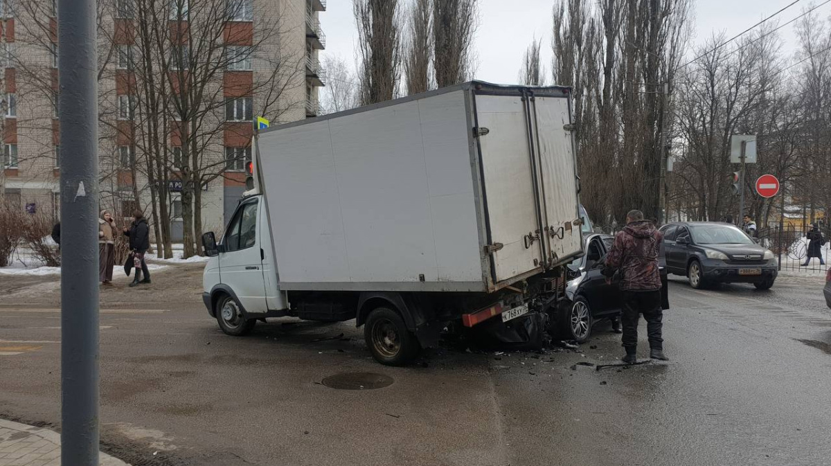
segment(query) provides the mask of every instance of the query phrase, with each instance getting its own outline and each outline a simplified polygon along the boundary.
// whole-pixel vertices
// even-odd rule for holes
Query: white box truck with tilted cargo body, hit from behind
[[[573,129],[568,87],[472,81],[259,131],[205,306],[230,335],[356,319],[387,365],[546,311],[583,254]]]

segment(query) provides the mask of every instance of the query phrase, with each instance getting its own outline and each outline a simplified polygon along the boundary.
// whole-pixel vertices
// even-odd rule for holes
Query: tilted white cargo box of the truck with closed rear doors
[[[473,81],[263,130],[280,289],[494,292],[577,257],[569,95]]]

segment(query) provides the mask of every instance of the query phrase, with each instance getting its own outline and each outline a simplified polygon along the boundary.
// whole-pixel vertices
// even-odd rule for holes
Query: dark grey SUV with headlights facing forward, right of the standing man
[[[753,283],[760,290],[774,286],[774,253],[729,223],[669,223],[661,233],[667,271],[687,277],[693,288],[711,283]]]

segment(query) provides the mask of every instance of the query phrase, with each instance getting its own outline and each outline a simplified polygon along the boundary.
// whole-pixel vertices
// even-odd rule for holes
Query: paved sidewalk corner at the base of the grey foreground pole
[[[101,466],[129,466],[99,454]],[[60,466],[61,434],[49,429],[0,419],[0,466]]]

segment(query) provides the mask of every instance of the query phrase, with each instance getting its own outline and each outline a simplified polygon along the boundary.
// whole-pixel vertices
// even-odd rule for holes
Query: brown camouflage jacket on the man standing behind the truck
[[[606,257],[603,275],[612,277],[619,270],[622,291],[660,290],[658,255],[661,253],[663,239],[663,235],[648,220],[629,223],[615,236],[612,250]]]

